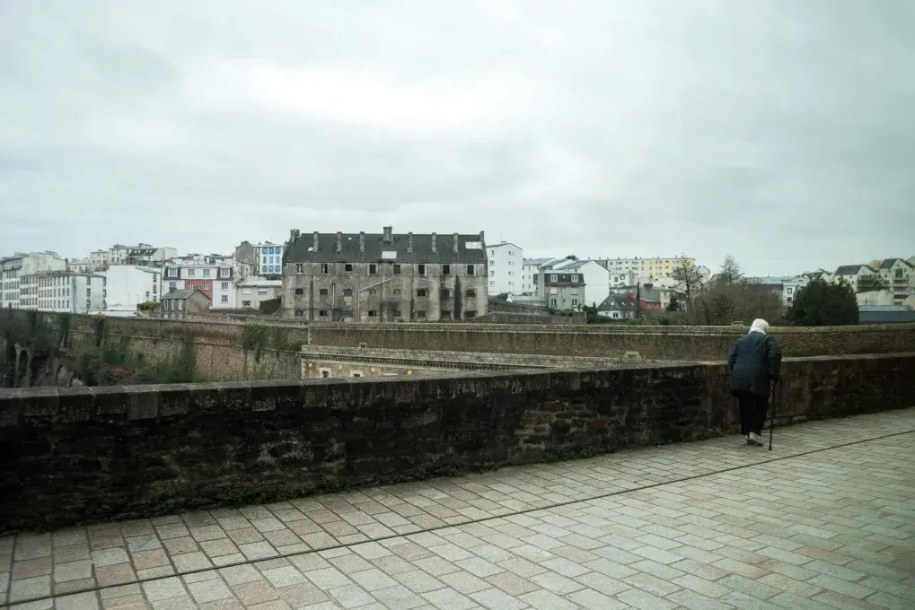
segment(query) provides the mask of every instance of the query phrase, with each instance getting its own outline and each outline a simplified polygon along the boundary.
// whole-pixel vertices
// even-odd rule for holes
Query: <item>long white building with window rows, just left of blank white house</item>
[[[105,277],[99,273],[51,271],[22,276],[20,307],[70,314],[105,308]]]

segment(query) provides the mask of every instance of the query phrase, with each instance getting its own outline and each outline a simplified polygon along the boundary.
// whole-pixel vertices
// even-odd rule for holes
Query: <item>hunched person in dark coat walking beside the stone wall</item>
[[[779,340],[767,335],[769,323],[753,320],[745,337],[737,339],[727,357],[731,369],[731,394],[740,410],[743,444],[762,444],[762,426],[769,411],[771,388],[779,382]]]

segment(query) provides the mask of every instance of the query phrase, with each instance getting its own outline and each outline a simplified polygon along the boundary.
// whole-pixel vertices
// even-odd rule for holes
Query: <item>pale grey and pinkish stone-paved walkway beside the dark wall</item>
[[[915,409],[0,539],[14,610],[915,608]]]

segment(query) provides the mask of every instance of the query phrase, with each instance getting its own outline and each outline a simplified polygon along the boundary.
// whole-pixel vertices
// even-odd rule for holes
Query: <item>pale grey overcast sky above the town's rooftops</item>
[[[0,254],[915,254],[910,0],[0,0]]]

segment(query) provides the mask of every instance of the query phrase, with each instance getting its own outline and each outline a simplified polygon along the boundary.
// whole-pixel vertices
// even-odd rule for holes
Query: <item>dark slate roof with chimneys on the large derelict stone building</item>
[[[314,234],[302,232],[286,243],[283,262],[404,262],[439,264],[486,264],[486,244],[482,233],[458,235],[458,251],[454,251],[454,233],[436,235],[436,252],[432,251],[431,233],[413,234],[413,251],[407,252],[409,234],[394,233],[390,243],[384,243],[382,233],[365,234],[365,251],[360,251],[360,234],[343,233],[342,249],[337,251],[337,233],[318,233],[318,251],[314,251]],[[468,249],[467,242],[478,242],[480,248]],[[384,258],[383,252],[394,251],[395,259]]]

